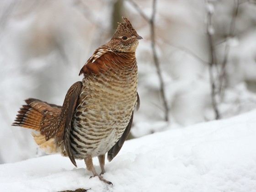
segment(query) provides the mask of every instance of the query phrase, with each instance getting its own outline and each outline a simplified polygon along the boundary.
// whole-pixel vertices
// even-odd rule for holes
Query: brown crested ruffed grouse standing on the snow
[[[76,167],[75,160],[84,160],[87,170],[107,184],[112,182],[102,176],[105,156],[111,161],[120,151],[140,104],[135,51],[143,38],[122,18],[110,41],[84,64],[83,79],[69,88],[62,106],[28,98],[12,124],[35,130],[33,139],[47,154],[67,156]]]

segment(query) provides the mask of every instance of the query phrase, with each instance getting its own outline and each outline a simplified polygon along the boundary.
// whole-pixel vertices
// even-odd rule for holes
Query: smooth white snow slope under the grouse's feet
[[[47,155],[0,165],[0,191],[256,192],[255,117],[256,110],[126,141],[105,167],[113,186],[90,179],[82,160],[74,168]]]

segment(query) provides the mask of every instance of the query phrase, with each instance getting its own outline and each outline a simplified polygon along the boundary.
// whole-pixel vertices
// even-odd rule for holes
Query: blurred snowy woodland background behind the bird
[[[19,107],[29,97],[62,105],[121,16],[144,38],[136,52],[141,106],[133,137],[256,108],[255,0],[157,0],[155,11],[168,122],[143,17],[151,17],[151,0],[1,0],[0,163],[43,155],[31,130],[11,127]]]

